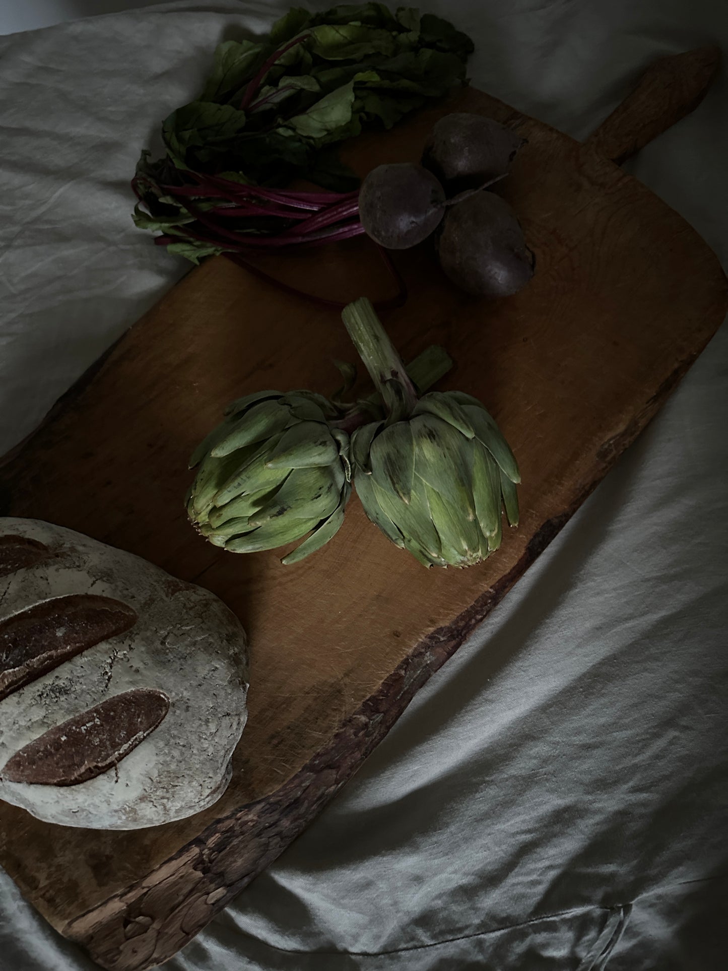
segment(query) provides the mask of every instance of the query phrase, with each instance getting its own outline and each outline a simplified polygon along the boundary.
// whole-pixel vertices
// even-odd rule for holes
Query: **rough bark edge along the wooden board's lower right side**
[[[109,971],[144,971],[176,954],[315,819],[374,751],[415,693],[473,633],[576,513],[632,444],[708,344],[692,352],[597,452],[593,478],[571,506],[548,519],[493,587],[447,627],[421,641],[319,753],[276,792],[216,820],[148,878],[70,921],[64,936]]]

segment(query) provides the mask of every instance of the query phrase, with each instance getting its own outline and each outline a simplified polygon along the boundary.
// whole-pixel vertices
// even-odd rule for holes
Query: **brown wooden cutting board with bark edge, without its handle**
[[[248,726],[233,781],[212,809],[123,833],[53,826],[0,804],[3,866],[105,968],[132,971],[175,954],[314,819],[639,434],[724,317],[714,254],[608,161],[599,140],[581,146],[468,89],[360,138],[348,158],[362,174],[414,160],[452,110],[495,117],[528,139],[502,192],[536,252],[536,276],[514,297],[480,301],[449,285],[424,245],[397,254],[410,298],[384,322],[406,357],[443,344],[457,367],[440,386],[480,397],[513,446],[521,523],[496,555],[427,571],[384,539],[355,497],[335,539],[294,566],[281,566],[280,551],[220,552],[190,528],[186,459],[223,406],[268,387],[330,392],[333,359],[354,359],[335,311],[224,257],[174,287],[0,469],[4,514],[70,526],[208,587],[250,638]],[[640,111],[651,124],[649,102]],[[391,288],[361,239],[261,266],[334,299]]]

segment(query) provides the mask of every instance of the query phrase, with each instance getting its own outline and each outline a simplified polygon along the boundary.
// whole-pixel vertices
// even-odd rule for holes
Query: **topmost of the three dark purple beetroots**
[[[524,139],[492,118],[454,112],[430,132],[422,165],[445,186],[448,198],[508,172]]]

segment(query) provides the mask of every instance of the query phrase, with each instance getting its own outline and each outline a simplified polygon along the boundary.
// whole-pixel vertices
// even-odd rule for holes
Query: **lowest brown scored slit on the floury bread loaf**
[[[138,687],[50,728],[0,770],[6,782],[77,786],[115,768],[169,711],[163,691]],[[116,777],[117,778],[117,777]]]

